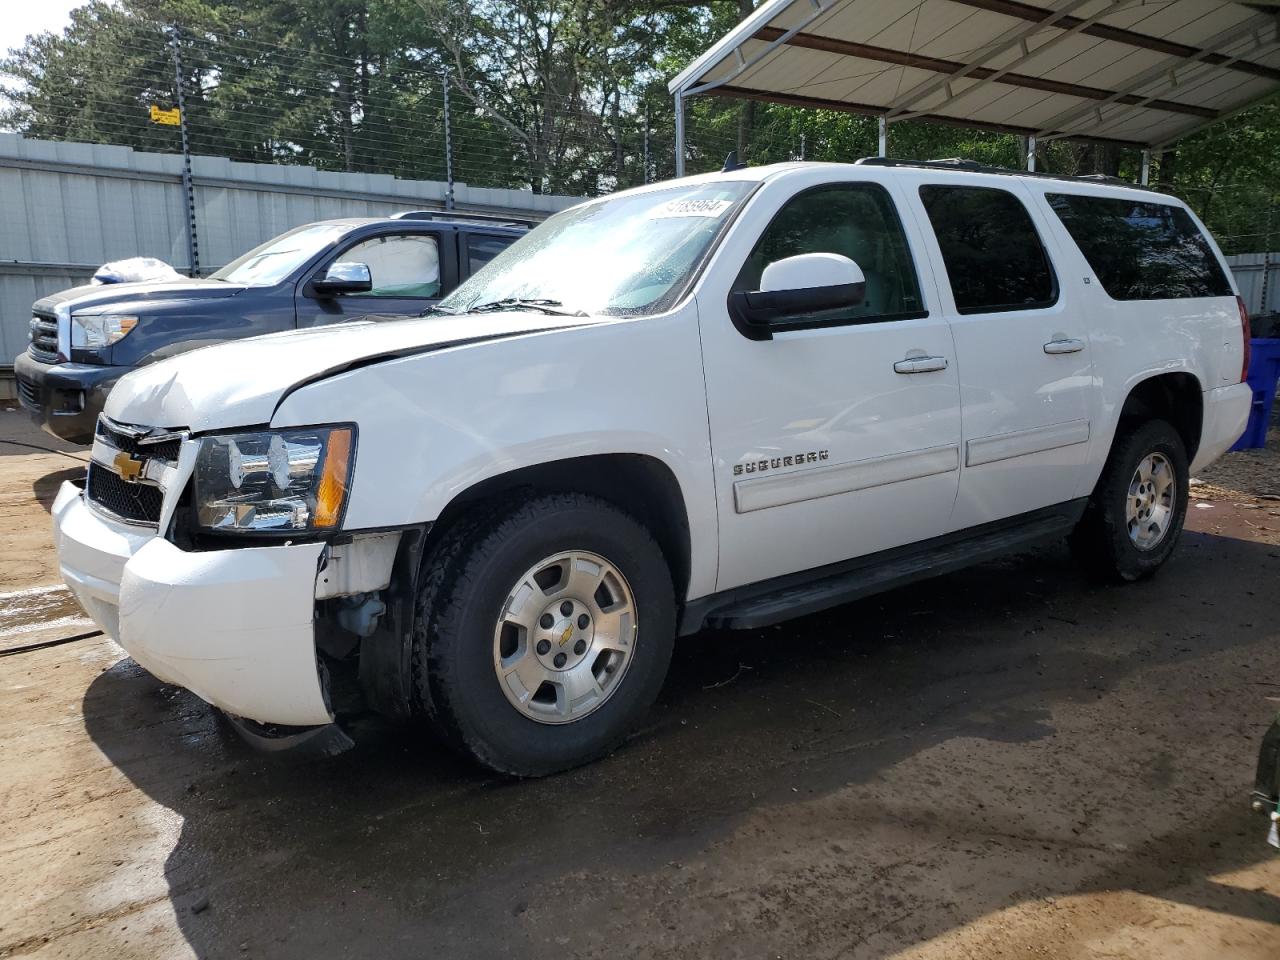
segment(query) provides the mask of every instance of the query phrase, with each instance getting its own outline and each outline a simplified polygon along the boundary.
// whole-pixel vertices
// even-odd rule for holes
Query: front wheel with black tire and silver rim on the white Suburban
[[[547,776],[613,750],[657,699],[675,641],[671,572],[649,531],[612,504],[559,493],[490,507],[425,563],[413,689],[458,753]],[[602,588],[588,596],[593,579]]]

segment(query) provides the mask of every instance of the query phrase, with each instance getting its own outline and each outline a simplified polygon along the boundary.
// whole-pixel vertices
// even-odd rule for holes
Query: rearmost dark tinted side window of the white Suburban
[[[1078,193],[1046,200],[1112,300],[1231,296],[1208,241],[1181,207]]]

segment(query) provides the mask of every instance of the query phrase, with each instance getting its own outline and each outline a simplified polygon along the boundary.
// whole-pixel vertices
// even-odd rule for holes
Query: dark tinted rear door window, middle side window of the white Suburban
[[[1057,301],[1048,253],[1027,207],[995,187],[920,187],[961,314],[1034,310]]]

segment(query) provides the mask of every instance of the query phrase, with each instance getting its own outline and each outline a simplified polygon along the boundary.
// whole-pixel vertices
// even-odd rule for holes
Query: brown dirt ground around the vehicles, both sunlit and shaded
[[[0,443],[0,957],[1275,960],[1277,452],[1206,471],[1151,581],[1055,547],[704,634],[617,754],[506,782],[371,717],[253,753],[100,636],[6,655],[92,627],[81,466]]]

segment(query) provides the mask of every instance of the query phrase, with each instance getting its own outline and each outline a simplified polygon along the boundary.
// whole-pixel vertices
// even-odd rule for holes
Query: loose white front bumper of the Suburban
[[[101,517],[72,484],[52,516],[63,580],[148,672],[259,723],[333,721],[315,646],[324,544],[187,553]]]

